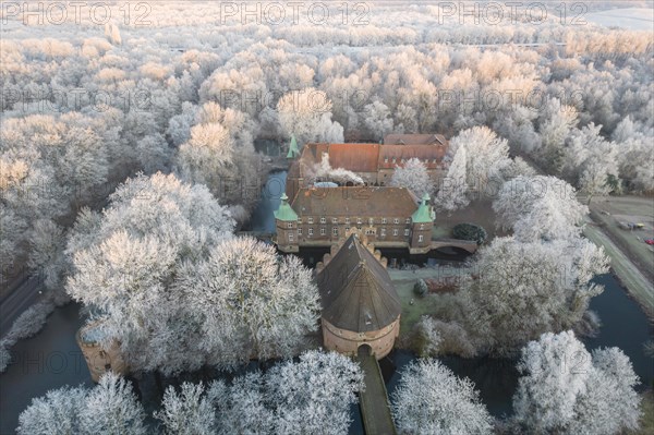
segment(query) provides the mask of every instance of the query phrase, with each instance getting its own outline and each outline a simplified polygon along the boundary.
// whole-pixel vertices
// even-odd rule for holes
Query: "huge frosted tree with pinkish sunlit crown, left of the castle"
[[[105,345],[119,340],[134,368],[202,364],[180,346],[197,342],[194,317],[170,288],[183,265],[231,237],[231,216],[205,186],[161,173],[130,179],[110,198],[73,229],[66,292],[104,321]]]

